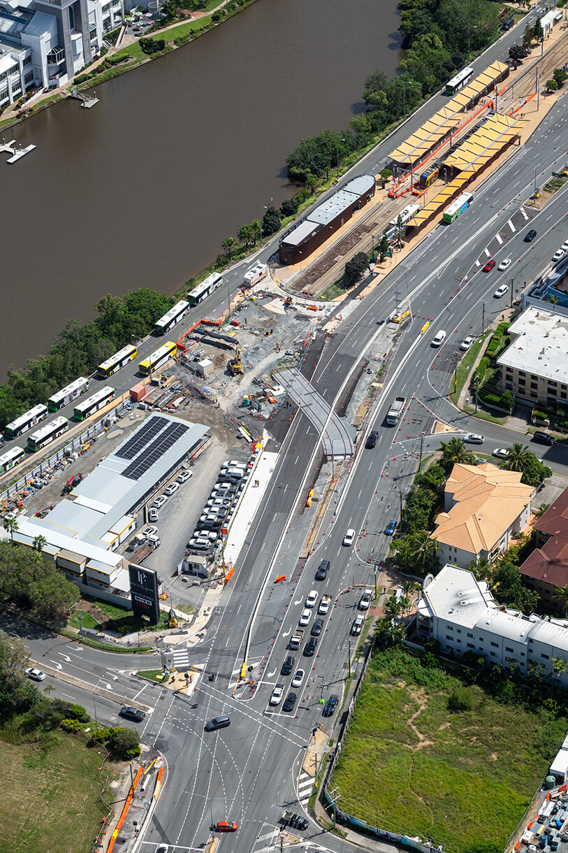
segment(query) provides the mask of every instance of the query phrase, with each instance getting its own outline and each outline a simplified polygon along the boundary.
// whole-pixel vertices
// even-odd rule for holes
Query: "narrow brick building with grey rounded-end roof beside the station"
[[[281,264],[298,264],[308,258],[373,196],[373,175],[352,178],[282,237],[278,249]]]

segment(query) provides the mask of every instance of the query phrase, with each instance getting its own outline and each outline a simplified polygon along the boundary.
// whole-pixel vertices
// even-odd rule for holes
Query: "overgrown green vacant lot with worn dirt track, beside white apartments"
[[[501,705],[477,685],[472,711],[449,711],[461,683],[404,649],[374,656],[329,785],[342,811],[453,853],[501,853],[568,720]]]

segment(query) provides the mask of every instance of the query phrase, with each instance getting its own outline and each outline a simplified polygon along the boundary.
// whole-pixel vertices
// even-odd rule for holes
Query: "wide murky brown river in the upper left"
[[[0,373],[69,317],[136,287],[174,293],[224,237],[292,194],[303,136],[341,130],[400,56],[396,0],[258,0],[192,44],[5,131]]]

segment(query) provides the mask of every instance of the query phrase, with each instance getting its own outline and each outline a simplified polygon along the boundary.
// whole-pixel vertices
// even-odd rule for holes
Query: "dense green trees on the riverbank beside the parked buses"
[[[0,385],[0,428],[78,376],[89,376],[105,358],[131,340],[143,338],[173,300],[148,288],[124,298],[104,296],[92,322],[69,320],[47,356],[31,358],[24,369],[12,366]]]

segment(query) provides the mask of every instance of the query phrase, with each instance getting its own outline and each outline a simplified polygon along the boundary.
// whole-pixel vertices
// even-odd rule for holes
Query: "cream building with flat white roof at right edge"
[[[518,402],[568,399],[568,317],[552,308],[529,305],[509,326],[511,344],[497,358],[501,391]]]

